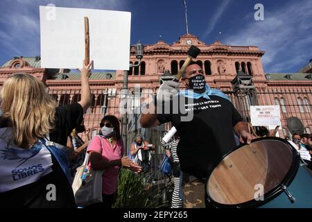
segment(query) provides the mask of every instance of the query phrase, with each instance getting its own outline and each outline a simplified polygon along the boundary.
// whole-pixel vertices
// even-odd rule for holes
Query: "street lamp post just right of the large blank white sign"
[[[143,58],[143,50],[144,50],[144,46],[143,44],[141,44],[140,42],[138,42],[135,45],[135,54],[138,60],[138,63],[133,65],[130,63],[129,67],[138,67],[139,65],[141,65],[141,59]],[[128,109],[128,70],[124,70],[123,71],[123,89],[121,92],[123,99],[125,100],[123,105],[123,116],[121,119],[121,134],[123,137],[123,144],[125,147],[127,147],[127,154],[128,154],[128,138],[127,138],[127,124],[128,124],[128,118],[127,118],[127,109]]]

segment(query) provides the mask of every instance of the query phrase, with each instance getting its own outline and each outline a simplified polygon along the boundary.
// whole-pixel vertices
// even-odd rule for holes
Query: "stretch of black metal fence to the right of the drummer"
[[[304,133],[311,133],[311,88],[292,87],[284,89],[276,87],[274,89],[257,89],[257,91],[250,91],[245,94],[225,93],[246,122],[250,122],[250,105],[279,105],[281,110],[280,137],[292,136],[291,131],[288,129],[288,119],[291,117],[297,117],[302,121]]]

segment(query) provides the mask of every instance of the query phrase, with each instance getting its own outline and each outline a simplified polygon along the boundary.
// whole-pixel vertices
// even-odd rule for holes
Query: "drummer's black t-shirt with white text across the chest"
[[[186,102],[179,103],[180,108],[177,109],[177,104],[173,105],[171,101],[171,114],[157,114],[160,123],[171,121],[180,135],[177,156],[182,171],[198,178],[207,177],[217,162],[234,150],[236,143],[233,127],[242,121],[230,101],[220,96],[209,97],[210,100],[201,97],[193,99],[191,103],[185,97],[175,97],[173,101],[179,98]],[[183,120],[182,117],[185,118],[191,111],[191,121]]]

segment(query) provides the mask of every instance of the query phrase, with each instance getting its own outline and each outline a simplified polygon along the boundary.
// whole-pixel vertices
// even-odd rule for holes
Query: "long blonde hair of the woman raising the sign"
[[[55,126],[56,101],[44,83],[29,74],[13,74],[1,89],[2,117],[12,126],[13,142],[29,148]]]

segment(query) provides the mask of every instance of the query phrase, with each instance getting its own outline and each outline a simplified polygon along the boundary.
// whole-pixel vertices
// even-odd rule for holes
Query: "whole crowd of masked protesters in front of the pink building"
[[[57,106],[46,92],[44,83],[30,74],[10,76],[1,89],[0,118],[0,207],[77,207],[71,183],[85,156],[89,167],[103,171],[102,203],[89,208],[110,208],[116,196],[121,167],[144,173],[148,187],[150,160],[155,146],[137,135],[125,154],[120,122],[106,115],[99,123],[100,133],[90,137],[83,125],[83,115],[91,104],[89,76],[92,62],[83,63],[81,100]],[[182,76],[185,90],[177,93],[179,83],[167,81],[159,88],[155,100],[142,112],[144,128],[171,122],[179,137],[163,143],[171,156],[174,190],[171,207],[207,207],[205,179],[225,153],[236,148],[235,136],[250,144],[257,137],[275,136],[265,127],[253,134],[227,96],[205,83],[202,68],[191,62]],[[173,90],[174,89],[174,90]],[[182,112],[155,112],[159,105],[171,107],[174,97],[192,101],[193,119],[182,121]],[[177,100],[180,101],[180,100]],[[209,105],[207,105],[209,104]],[[79,136],[85,133],[83,139]],[[293,134],[298,150],[312,154],[311,135]],[[311,161],[305,160],[311,168]],[[48,185],[54,185],[55,200],[46,198]]]

